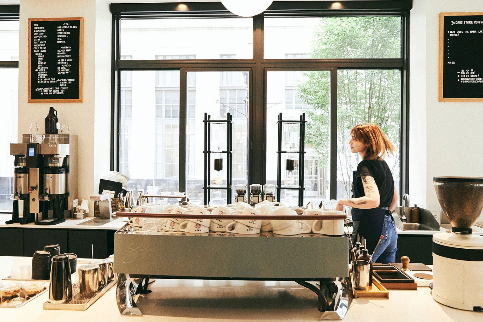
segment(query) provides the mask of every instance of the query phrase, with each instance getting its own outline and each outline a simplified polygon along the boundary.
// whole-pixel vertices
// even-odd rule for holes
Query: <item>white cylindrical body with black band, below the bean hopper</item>
[[[433,299],[452,308],[483,311],[482,236],[434,234],[433,266]]]

